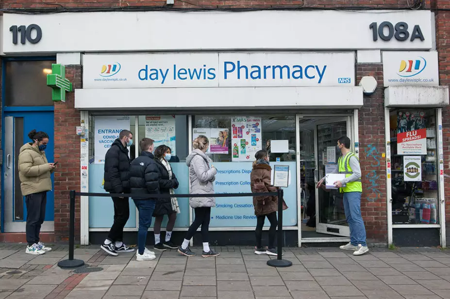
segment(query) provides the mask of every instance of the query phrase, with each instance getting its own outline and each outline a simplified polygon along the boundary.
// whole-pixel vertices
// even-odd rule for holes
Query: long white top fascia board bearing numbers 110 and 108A
[[[291,10],[239,14],[5,12],[2,17],[0,44],[7,54],[196,49],[428,50],[433,47],[434,28],[430,10]],[[185,26],[181,28],[180,24]]]

